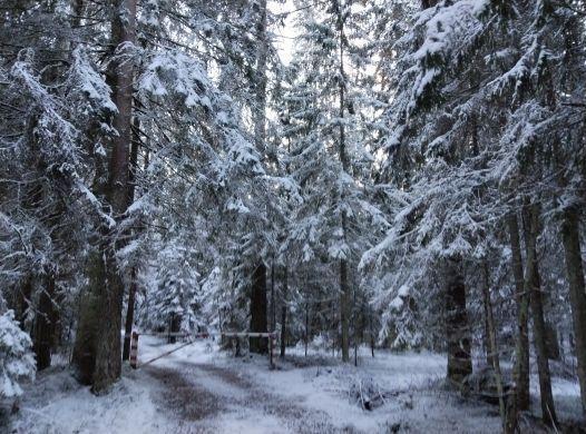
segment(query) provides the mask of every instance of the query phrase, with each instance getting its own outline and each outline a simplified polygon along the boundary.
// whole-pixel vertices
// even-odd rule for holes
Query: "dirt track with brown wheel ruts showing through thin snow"
[[[180,361],[144,369],[158,384],[154,401],[180,433],[340,432],[325,413],[266,392],[229,366]]]

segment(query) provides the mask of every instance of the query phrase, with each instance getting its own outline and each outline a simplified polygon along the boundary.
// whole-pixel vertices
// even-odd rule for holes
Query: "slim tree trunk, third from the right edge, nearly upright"
[[[515,303],[517,306],[517,336],[515,342],[515,407],[517,411],[529,410],[529,293],[525,290],[522,276],[521,244],[517,214],[507,217],[511,250],[511,268],[515,278]]]

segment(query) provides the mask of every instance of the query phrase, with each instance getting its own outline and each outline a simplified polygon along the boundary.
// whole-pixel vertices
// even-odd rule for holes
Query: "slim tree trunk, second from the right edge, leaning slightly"
[[[537,258],[539,208],[535,205],[524,207],[525,246],[527,250],[527,268],[525,276],[525,290],[530,292],[533,316],[534,345],[537,353],[537,368],[539,373],[539,392],[541,397],[541,415],[548,425],[557,423],[551,393],[551,375],[547,357],[546,328],[544,306],[539,278],[539,264]]]

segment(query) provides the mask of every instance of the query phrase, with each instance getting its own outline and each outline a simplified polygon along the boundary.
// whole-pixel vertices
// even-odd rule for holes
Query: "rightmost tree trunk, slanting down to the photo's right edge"
[[[586,417],[586,285],[584,283],[584,267],[582,264],[579,218],[576,208],[564,210],[561,239],[566,256],[569,302],[576,341],[582,411],[584,417]]]

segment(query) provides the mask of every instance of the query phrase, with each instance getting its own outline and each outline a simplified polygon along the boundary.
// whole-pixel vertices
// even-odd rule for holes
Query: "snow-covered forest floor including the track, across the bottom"
[[[140,337],[139,361],[176,347]],[[138,371],[125,367],[110,394],[94,396],[67,369],[29,385],[13,433],[496,433],[497,408],[466,402],[441,387],[446,359],[430,353],[362,354],[360,365],[324,355],[287,362],[234,358],[198,342]],[[385,392],[362,410],[350,398],[358,379]],[[556,402],[579,406],[577,385],[556,379]],[[570,408],[572,410],[572,408]]]

